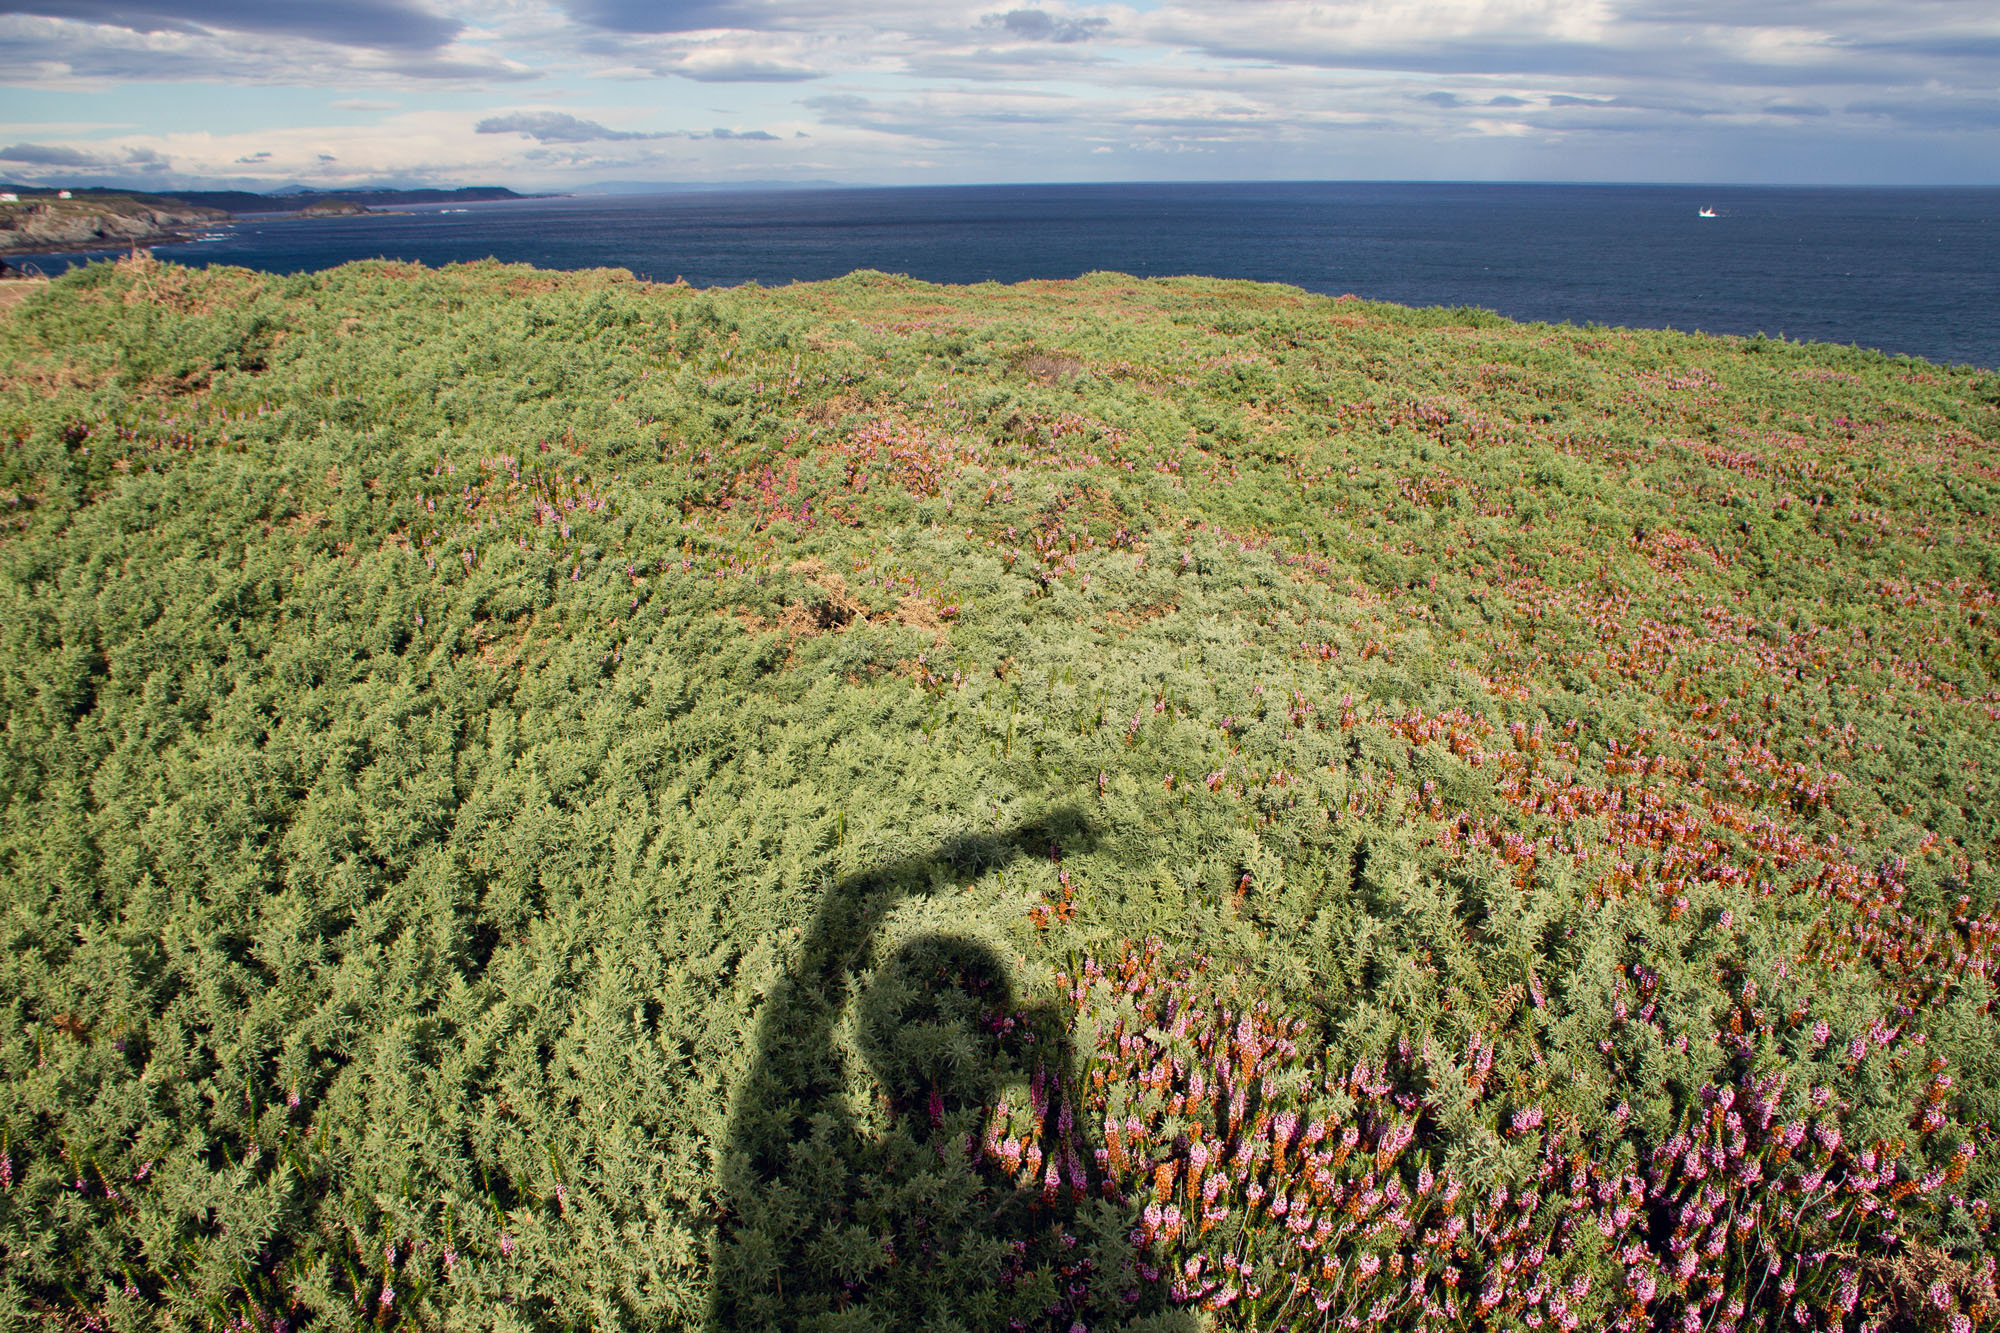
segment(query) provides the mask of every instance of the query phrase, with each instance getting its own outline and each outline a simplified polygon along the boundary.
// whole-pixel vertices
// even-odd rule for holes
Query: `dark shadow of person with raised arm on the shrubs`
[[[974,937],[878,957],[902,899],[1090,841],[1058,815],[826,893],[732,1097],[712,1331],[1108,1329],[1164,1307],[1084,1139],[1060,1015],[1018,1007]],[[1002,1099],[1046,1167],[1024,1173],[1016,1139],[994,1151]]]

